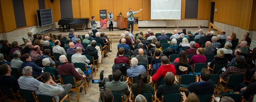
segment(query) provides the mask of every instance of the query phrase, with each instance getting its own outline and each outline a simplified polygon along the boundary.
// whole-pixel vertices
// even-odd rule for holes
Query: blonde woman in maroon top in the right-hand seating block
[[[196,63],[206,63],[206,57],[204,56],[204,48],[198,48],[196,54],[191,57],[190,63],[193,66]]]

